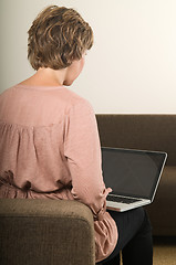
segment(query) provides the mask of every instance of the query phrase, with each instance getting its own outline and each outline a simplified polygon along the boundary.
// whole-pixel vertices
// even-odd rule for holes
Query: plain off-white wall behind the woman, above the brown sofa
[[[33,74],[27,31],[49,4],[75,8],[95,43],[71,89],[95,113],[176,113],[175,0],[0,0],[0,91]]]

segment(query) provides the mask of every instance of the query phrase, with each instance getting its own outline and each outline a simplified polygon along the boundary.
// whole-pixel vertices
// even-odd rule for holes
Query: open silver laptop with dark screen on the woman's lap
[[[102,147],[104,182],[113,190],[107,209],[124,212],[152,203],[166,158],[163,151]]]

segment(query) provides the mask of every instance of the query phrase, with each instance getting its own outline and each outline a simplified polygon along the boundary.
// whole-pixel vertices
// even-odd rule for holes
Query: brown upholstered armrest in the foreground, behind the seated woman
[[[94,265],[91,210],[50,199],[0,200],[0,264]]]

